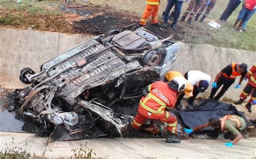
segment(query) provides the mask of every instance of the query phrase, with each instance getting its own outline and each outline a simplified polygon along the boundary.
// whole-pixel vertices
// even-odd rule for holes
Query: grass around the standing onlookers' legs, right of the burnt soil
[[[146,6],[146,0],[91,0],[92,4],[96,5],[109,5],[117,10],[126,10],[131,11],[137,15],[142,15],[143,11]],[[158,13],[158,17],[160,17],[161,13],[165,10],[167,1],[161,1],[160,10]],[[226,9],[228,0],[220,1],[218,0],[211,11],[210,15],[207,17],[206,21],[217,21],[223,11]],[[188,3],[183,4],[181,15],[185,12]],[[184,42],[191,43],[191,44],[211,44],[219,47],[226,47],[226,48],[236,48],[236,49],[245,49],[256,52],[256,14],[252,16],[250,21],[248,21],[247,30],[245,33],[231,31],[230,28],[233,27],[233,23],[237,18],[239,11],[241,9],[241,4],[238,8],[232,13],[232,15],[228,18],[227,23],[221,23],[221,27],[216,29],[211,29],[207,26],[207,23],[199,23],[193,21],[192,27],[194,28],[204,28],[207,32],[205,34],[198,34],[197,30],[194,29],[194,35],[188,36]],[[160,18],[159,18],[160,19]],[[160,20],[160,23],[163,23]],[[186,23],[186,21],[185,21]],[[184,24],[185,27],[191,27],[188,24]]]

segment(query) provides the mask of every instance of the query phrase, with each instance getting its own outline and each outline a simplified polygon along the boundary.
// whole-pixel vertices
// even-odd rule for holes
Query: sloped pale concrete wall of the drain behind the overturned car
[[[71,35],[11,28],[0,28],[0,37],[0,86],[5,88],[23,88],[25,85],[19,81],[21,69],[30,67],[38,71],[40,64],[92,38],[91,35]],[[251,67],[255,63],[255,59],[256,53],[245,50],[181,43],[173,69],[183,74],[187,70],[201,70],[210,74],[214,79],[218,71],[228,63],[245,62]],[[238,90],[231,88],[225,97],[237,99],[245,84],[246,82]],[[210,89],[204,93],[204,96],[208,96],[209,92]]]

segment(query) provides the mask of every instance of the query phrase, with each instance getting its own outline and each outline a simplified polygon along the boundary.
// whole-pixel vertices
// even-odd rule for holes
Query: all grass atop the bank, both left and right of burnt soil
[[[232,13],[230,18],[228,18],[227,23],[218,21],[228,1],[218,0],[210,15],[205,19],[205,23],[199,23],[198,21],[193,21],[192,25],[188,25],[186,21],[183,24],[179,23],[180,28],[187,32],[187,37],[183,42],[190,44],[210,44],[256,52],[256,14],[248,22],[245,33],[230,30],[241,9],[241,4]],[[89,0],[89,2],[91,6],[110,6],[116,10],[127,11],[132,15],[138,15],[138,17],[143,14],[146,6],[146,0]],[[76,2],[71,0],[70,3],[70,5],[74,5],[82,2],[80,0]],[[165,10],[166,3],[167,1],[161,1],[159,19],[161,13]],[[35,26],[38,30],[75,33],[75,31],[72,31],[72,27],[65,22],[65,13],[61,12],[58,8],[60,4],[62,4],[61,1],[30,2],[30,0],[23,0],[21,4],[18,4],[16,1],[1,0],[0,25],[21,28]],[[181,16],[187,6],[188,3],[184,2]],[[1,12],[2,10],[3,12]],[[217,30],[207,26],[207,23],[211,20],[220,23],[221,27]],[[163,24],[163,20],[161,19],[160,24]]]

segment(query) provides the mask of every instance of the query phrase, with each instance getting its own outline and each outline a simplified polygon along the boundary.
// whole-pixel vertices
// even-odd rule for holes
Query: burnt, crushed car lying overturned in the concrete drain
[[[43,63],[21,70],[19,111],[51,140],[122,136],[146,85],[163,79],[179,45],[137,25],[111,29]]]

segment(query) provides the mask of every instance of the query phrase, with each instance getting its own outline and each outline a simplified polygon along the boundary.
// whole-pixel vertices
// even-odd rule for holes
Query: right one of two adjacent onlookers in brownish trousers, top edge
[[[201,17],[201,19],[199,20],[201,23],[203,23],[204,19],[210,14],[211,10],[214,8],[216,1],[217,0],[211,0],[209,5],[207,5],[208,1],[204,1],[204,4],[201,6],[201,9],[197,13],[197,16],[194,18],[194,20],[197,21],[201,14],[204,12],[204,10],[207,8],[204,12],[203,17]]]

